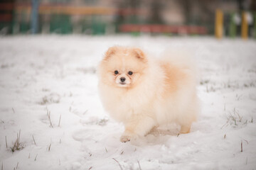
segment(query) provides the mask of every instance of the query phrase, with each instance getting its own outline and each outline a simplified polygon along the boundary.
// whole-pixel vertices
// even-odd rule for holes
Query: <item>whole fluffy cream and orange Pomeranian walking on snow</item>
[[[188,133],[198,114],[196,69],[174,52],[159,60],[136,47],[110,47],[98,67],[100,98],[105,110],[124,123],[121,142],[146,135],[168,123]]]

